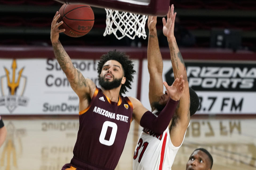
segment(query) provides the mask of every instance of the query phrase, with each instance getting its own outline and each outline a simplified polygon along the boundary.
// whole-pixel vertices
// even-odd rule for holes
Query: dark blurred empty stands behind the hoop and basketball
[[[179,47],[231,48],[256,51],[256,1],[175,0],[175,37]],[[0,0],[0,45],[51,46],[50,25],[62,6],[53,0]],[[83,37],[61,35],[63,45],[146,47],[147,39],[103,37],[105,9],[92,7],[94,26]],[[162,34],[162,17],[157,22],[159,45],[168,46]],[[147,24],[146,24],[146,31]]]

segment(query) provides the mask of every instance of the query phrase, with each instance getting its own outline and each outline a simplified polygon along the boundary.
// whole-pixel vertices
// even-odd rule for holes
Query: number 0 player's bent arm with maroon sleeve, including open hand
[[[129,97],[133,104],[133,118],[143,127],[162,134],[168,127],[171,118],[173,117],[178,101],[184,92],[184,80],[182,76],[175,79],[171,86],[164,82],[166,90],[170,95],[165,108],[159,113],[158,117],[148,111],[138,99]]]

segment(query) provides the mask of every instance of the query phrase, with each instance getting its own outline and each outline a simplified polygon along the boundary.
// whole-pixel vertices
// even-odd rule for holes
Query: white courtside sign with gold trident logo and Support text
[[[134,70],[138,73],[138,60]],[[98,60],[72,60],[84,77],[98,82]],[[138,74],[126,96],[137,97]],[[53,59],[1,59],[0,114],[78,114],[79,99]]]

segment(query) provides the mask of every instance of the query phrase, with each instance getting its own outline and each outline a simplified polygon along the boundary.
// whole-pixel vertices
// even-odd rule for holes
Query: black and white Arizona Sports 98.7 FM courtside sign
[[[197,114],[255,114],[256,64],[186,62],[189,86],[199,97]],[[174,80],[170,60],[163,61],[163,81],[169,85]],[[147,60],[143,60],[142,104],[150,108],[149,73]],[[164,88],[165,90],[165,88]]]

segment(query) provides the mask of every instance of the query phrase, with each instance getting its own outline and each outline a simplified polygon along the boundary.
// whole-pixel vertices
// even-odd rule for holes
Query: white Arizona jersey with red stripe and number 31
[[[159,112],[154,110],[152,113],[157,116]],[[133,170],[171,169],[174,158],[181,145],[176,147],[171,143],[168,127],[161,135],[144,128],[135,147]]]

